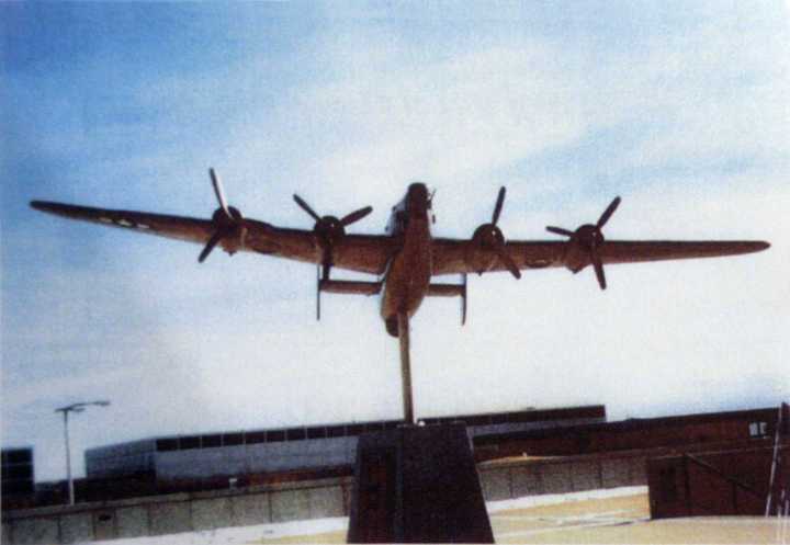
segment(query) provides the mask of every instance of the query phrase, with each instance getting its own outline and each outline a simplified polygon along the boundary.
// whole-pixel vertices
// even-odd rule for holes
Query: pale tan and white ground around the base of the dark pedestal
[[[790,521],[711,516],[651,521],[646,487],[487,503],[497,543],[790,544]],[[345,543],[348,518],[93,542],[104,545]]]

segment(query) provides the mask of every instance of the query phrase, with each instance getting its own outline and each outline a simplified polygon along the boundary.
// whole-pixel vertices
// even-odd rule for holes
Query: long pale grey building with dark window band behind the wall
[[[523,410],[426,419],[426,424],[464,421],[472,438],[492,433],[606,421],[603,406]],[[145,439],[90,449],[88,479],[135,478],[157,482],[230,479],[289,472],[350,467],[363,432],[393,429],[399,420],[352,422]]]

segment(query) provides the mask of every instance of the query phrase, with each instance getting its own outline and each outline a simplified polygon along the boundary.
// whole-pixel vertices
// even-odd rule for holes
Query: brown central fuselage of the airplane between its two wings
[[[424,183],[413,183],[393,208],[387,234],[400,236],[403,246],[384,276],[381,315],[390,334],[398,334],[398,314],[411,317],[428,294],[432,273],[430,198]]]

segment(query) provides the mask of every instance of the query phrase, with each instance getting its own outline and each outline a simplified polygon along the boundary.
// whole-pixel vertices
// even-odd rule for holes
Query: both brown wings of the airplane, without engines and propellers
[[[206,245],[216,230],[213,220],[133,211],[94,208],[71,204],[32,201],[37,211],[137,232]],[[284,259],[321,262],[320,245],[312,230],[286,229],[255,219],[242,219],[244,243],[222,242],[228,251],[252,251]],[[346,235],[336,242],[334,266],[370,274],[383,274],[387,262],[398,251],[396,237]],[[603,264],[639,263],[693,258],[712,258],[753,253],[769,248],[765,241],[672,241],[672,240],[605,240],[598,246]],[[469,240],[437,238],[432,243],[433,275],[507,271],[501,259],[489,248]],[[505,251],[519,270],[566,266],[579,271],[591,264],[587,253],[573,240],[527,241],[505,243]]]

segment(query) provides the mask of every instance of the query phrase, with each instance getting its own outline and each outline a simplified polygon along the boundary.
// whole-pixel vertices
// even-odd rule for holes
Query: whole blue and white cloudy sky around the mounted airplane
[[[470,277],[413,320],[417,417],[586,404],[610,420],[790,399],[787,2],[4,3],[3,447],[63,478],[84,449],[402,417],[375,297],[315,269],[68,222],[33,198],[312,228],[411,181],[435,236],[595,222],[610,239],[754,239],[765,252]],[[338,273],[340,276],[340,273]],[[352,277],[347,275],[346,277]],[[356,276],[354,276],[356,277]],[[450,279],[452,280],[452,279]]]

